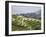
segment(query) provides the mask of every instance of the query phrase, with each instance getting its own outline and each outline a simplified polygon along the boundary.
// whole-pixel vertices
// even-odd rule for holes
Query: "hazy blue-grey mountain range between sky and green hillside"
[[[26,13],[26,14],[16,14],[17,16],[25,16],[27,18],[35,18],[35,19],[41,19],[41,10],[32,12],[32,13]]]

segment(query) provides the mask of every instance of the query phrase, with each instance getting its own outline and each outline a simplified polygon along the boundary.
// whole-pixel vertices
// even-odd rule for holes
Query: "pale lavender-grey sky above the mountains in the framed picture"
[[[40,10],[40,7],[37,6],[16,6],[12,5],[11,6],[11,12],[12,14],[26,14],[26,13],[32,13]]]

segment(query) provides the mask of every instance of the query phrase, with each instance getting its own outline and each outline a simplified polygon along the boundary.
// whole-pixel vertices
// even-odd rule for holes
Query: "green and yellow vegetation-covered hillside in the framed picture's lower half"
[[[37,20],[25,20],[24,16],[12,16],[12,31],[23,31],[23,30],[40,30],[41,21]]]

